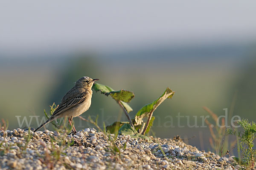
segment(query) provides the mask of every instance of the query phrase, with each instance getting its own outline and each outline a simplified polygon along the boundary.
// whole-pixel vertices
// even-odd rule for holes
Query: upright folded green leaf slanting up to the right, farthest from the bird
[[[155,101],[153,101],[150,104],[146,104],[144,107],[142,107],[137,114],[135,115],[135,126],[142,124],[143,118],[148,116],[150,112],[154,112],[154,110],[161,104],[166,98],[172,98],[174,95],[174,91],[167,87],[165,92],[157,98]]]

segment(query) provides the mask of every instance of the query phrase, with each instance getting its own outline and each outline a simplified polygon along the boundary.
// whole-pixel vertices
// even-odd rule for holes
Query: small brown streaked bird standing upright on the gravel
[[[61,117],[67,117],[72,127],[71,133],[77,133],[72,119],[73,117],[77,117],[86,112],[90,108],[91,98],[93,95],[92,86],[94,82],[98,80],[99,79],[97,78],[92,79],[87,76],[79,78],[79,80],[76,81],[75,86],[73,86],[73,88],[70,89],[61,99],[61,103],[52,113],[52,116],[35,129],[34,133],[46,124]]]

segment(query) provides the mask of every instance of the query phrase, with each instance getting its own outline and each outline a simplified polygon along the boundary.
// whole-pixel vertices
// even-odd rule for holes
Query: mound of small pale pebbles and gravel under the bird
[[[145,141],[118,135],[111,142],[94,128],[64,136],[56,131],[31,131],[29,140],[28,130],[0,131],[0,169],[239,169],[232,157],[200,151],[180,139],[150,137],[151,141]],[[114,135],[109,137],[113,139]]]

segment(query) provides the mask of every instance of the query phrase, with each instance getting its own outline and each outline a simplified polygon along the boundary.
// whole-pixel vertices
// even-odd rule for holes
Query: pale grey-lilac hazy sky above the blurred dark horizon
[[[1,1],[0,50],[96,50],[256,39],[256,1]]]

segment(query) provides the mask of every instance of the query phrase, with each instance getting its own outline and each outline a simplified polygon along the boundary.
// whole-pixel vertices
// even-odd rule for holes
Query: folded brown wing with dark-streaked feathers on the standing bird
[[[70,98],[69,100],[65,101],[65,102],[61,102],[61,104],[59,105],[59,107],[57,107],[57,109],[55,109],[55,111],[53,112],[52,116],[57,116],[60,115],[61,113],[63,113],[64,111],[66,111],[67,109],[70,109],[78,104],[81,104],[86,98],[87,98],[88,92],[82,92],[79,95]]]

